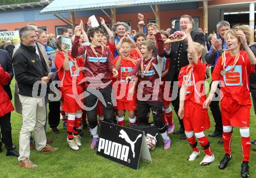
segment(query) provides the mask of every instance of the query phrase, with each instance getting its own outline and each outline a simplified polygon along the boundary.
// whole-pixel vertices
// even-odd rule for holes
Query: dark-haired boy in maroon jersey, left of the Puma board
[[[87,119],[93,140],[91,148],[95,149],[98,145],[98,122],[97,122],[97,102],[100,100],[103,105],[104,120],[113,122],[113,103],[111,99],[112,87],[110,74],[118,76],[118,71],[113,66],[113,56],[109,48],[102,45],[103,31],[101,28],[94,27],[88,30],[88,39],[91,45],[79,47],[80,26],[74,30],[76,37],[72,46],[72,56],[85,56],[84,71],[86,75],[86,97]]]

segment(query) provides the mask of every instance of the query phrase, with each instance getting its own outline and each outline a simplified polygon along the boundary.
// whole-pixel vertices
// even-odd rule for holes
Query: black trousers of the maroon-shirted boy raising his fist
[[[141,124],[147,123],[147,115],[151,109],[155,126],[158,127],[160,133],[166,132],[167,126],[162,120],[163,103],[161,101],[137,101],[137,105],[137,117]]]

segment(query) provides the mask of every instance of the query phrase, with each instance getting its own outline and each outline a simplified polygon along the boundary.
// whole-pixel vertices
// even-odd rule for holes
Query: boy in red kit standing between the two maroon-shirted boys
[[[129,125],[131,126],[136,123],[134,111],[137,109],[137,92],[129,93],[129,90],[131,89],[129,87],[133,87],[133,83],[127,84],[126,77],[129,75],[129,72],[133,70],[137,60],[130,56],[132,49],[130,39],[123,38],[120,43],[121,48],[119,49],[119,56],[117,56],[113,61],[116,70],[118,70],[118,81],[120,81],[117,87],[117,96],[122,97],[121,99],[116,99],[118,110],[118,116],[116,119],[118,120],[118,125],[125,126],[124,111],[127,110],[129,112]]]

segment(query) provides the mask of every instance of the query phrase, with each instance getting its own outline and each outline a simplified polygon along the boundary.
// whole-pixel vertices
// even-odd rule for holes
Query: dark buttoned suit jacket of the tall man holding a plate
[[[205,46],[204,33],[200,31],[191,31],[191,37],[194,42],[198,42]],[[166,75],[167,81],[177,81],[180,68],[187,66],[189,60],[187,60],[187,43],[178,41],[172,43],[170,53],[165,52],[165,57],[170,59],[170,65],[168,74]]]

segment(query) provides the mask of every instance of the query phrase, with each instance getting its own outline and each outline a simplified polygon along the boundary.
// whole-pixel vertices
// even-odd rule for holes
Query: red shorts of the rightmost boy
[[[223,126],[250,126],[250,107],[237,104],[230,96],[221,100],[221,117]]]

